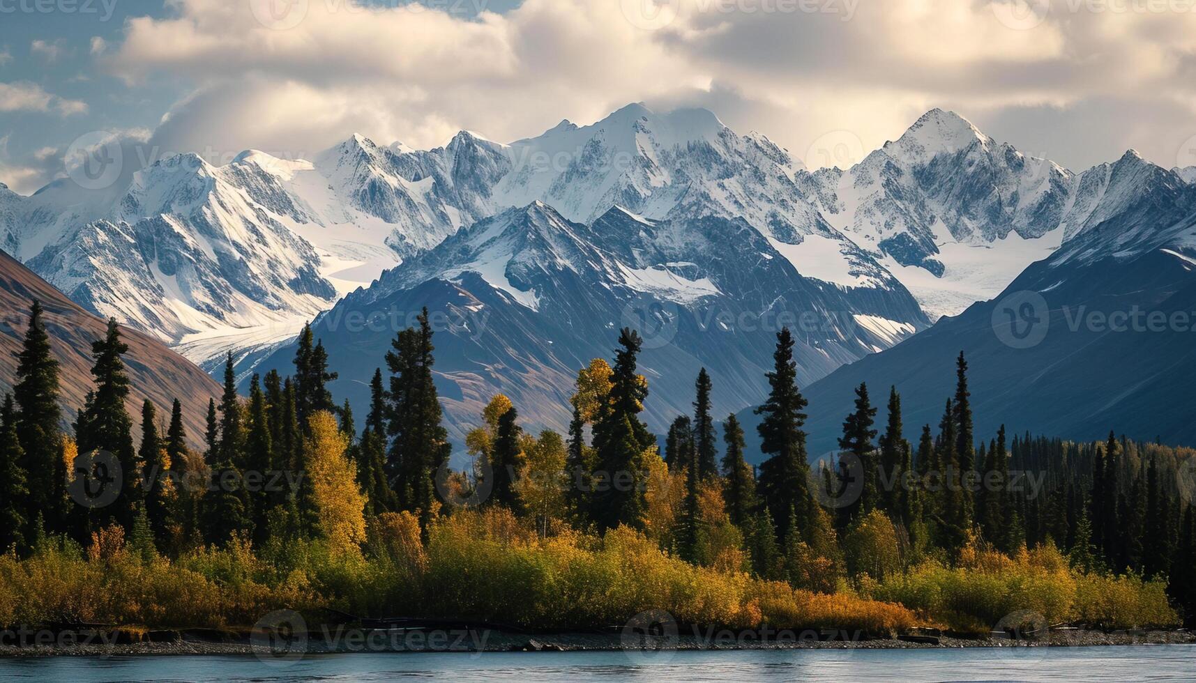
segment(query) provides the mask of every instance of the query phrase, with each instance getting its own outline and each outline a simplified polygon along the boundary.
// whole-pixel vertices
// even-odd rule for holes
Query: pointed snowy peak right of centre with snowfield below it
[[[990,298],[1060,245],[1074,178],[934,109],[852,169],[801,182],[938,318]]]

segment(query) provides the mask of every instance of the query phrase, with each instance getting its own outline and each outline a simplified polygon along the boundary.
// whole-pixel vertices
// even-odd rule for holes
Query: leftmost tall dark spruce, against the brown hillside
[[[42,512],[51,531],[65,531],[66,464],[59,423],[59,361],[42,319],[42,304],[33,299],[29,328],[17,354],[13,398],[20,410],[14,423],[22,458],[17,465],[28,477],[29,510]],[[28,532],[23,529],[22,532]]]

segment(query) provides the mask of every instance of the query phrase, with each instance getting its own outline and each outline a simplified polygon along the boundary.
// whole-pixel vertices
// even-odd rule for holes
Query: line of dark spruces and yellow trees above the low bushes
[[[1168,577],[1172,599],[1196,614],[1192,506],[1177,484],[1191,451],[1112,434],[1103,444],[1011,440],[1005,427],[986,443],[974,433],[963,354],[936,429],[923,425],[907,438],[901,395],[890,388],[881,432],[861,384],[836,461],[811,466],[807,402],[793,336],[782,329],[756,409],[765,456],[756,468],[734,414],[719,434],[704,368],[692,414],[672,422],[658,453],[641,419],[648,397],[637,372],[641,340],[624,329],[610,362],[579,370],[567,434],[525,433],[517,407],[495,396],[466,437],[474,468],[457,472],[447,469],[427,311],[391,347],[373,374],[360,431],[348,402],[337,404],[328,389],[336,373],[310,327],[299,336],[294,372],[254,374],[248,398],[238,396],[230,354],[224,392],[208,403],[206,449],[194,452],[178,401],[169,419],[145,402],[134,443],[124,407],[128,348],[115,321],[92,344],[94,389],[73,429],[62,429],[57,362],[33,301],[13,391],[0,409],[0,544],[26,553],[54,535],[86,543],[116,525],[146,553],[234,539],[350,547],[384,513],[411,513],[426,536],[465,505],[511,510],[543,535],[560,524],[649,531],[688,562],[824,592],[848,577],[883,579],[927,557],[951,563],[969,549],[1015,555],[1051,544],[1086,572]],[[104,482],[112,469],[120,482]],[[283,471],[301,476],[263,483]],[[1014,486],[1018,472],[1036,474],[1039,488]],[[196,475],[205,486],[178,484]],[[118,496],[81,505],[72,490],[80,480],[115,486]]]

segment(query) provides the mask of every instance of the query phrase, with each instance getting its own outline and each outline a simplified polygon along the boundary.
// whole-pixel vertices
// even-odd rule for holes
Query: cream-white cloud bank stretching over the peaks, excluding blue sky
[[[130,19],[98,59],[130,84],[195,83],[154,135],[177,150],[303,152],[352,132],[428,147],[460,128],[511,140],[647,100],[702,104],[798,155],[832,130],[873,148],[945,106],[1014,144],[1033,133],[1072,166],[1129,146],[1171,165],[1196,132],[1196,13],[1056,0],[1019,24],[1006,12],[1019,1],[672,0],[676,16],[655,16],[645,0],[526,0],[468,20],[352,0],[281,18],[255,16],[258,0],[172,0],[171,18]],[[1078,140],[1068,114],[1102,102],[1157,114]],[[1055,115],[1042,130],[1009,124],[1025,111]]]

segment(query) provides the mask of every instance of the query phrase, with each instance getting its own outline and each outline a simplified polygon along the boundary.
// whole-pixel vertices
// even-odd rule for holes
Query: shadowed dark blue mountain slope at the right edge
[[[1133,152],[1090,173],[1097,208],[1000,297],[810,386],[812,449],[834,447],[861,382],[874,396],[897,386],[907,433],[936,426],[960,350],[982,438],[1003,422],[1076,439],[1196,439],[1176,401],[1196,382],[1196,188]]]

